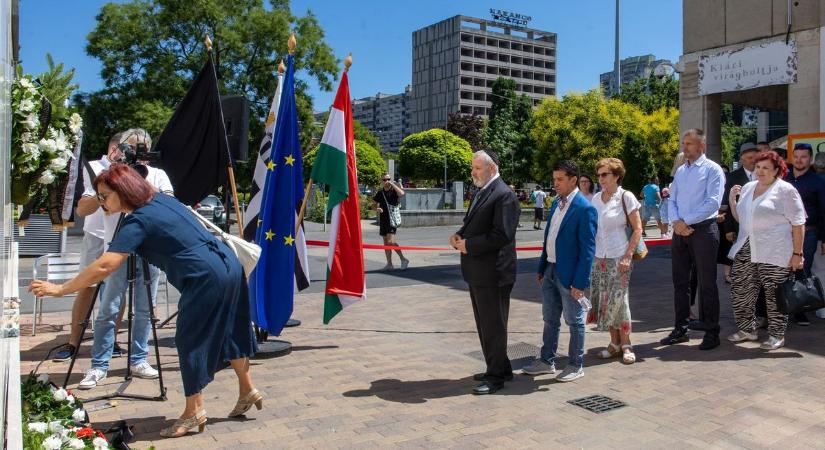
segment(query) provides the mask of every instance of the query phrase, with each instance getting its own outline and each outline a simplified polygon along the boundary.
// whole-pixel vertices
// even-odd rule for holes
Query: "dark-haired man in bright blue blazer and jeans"
[[[556,373],[556,350],[564,313],[564,321],[570,327],[569,360],[556,380],[567,382],[584,375],[584,322],[588,309],[579,300],[590,287],[598,214],[579,192],[576,163],[557,163],[553,184],[558,195],[550,207],[538,268],[544,318],[541,356],[523,370],[528,375]]]

